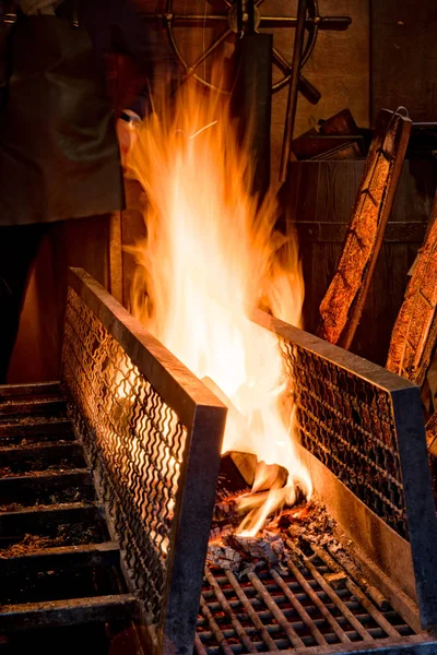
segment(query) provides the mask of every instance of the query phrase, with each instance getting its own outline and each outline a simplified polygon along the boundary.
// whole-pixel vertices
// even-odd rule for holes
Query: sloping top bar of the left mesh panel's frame
[[[206,406],[218,414],[225,409],[223,403],[86,271],[70,269],[69,286],[102,321],[189,430],[198,406]]]

